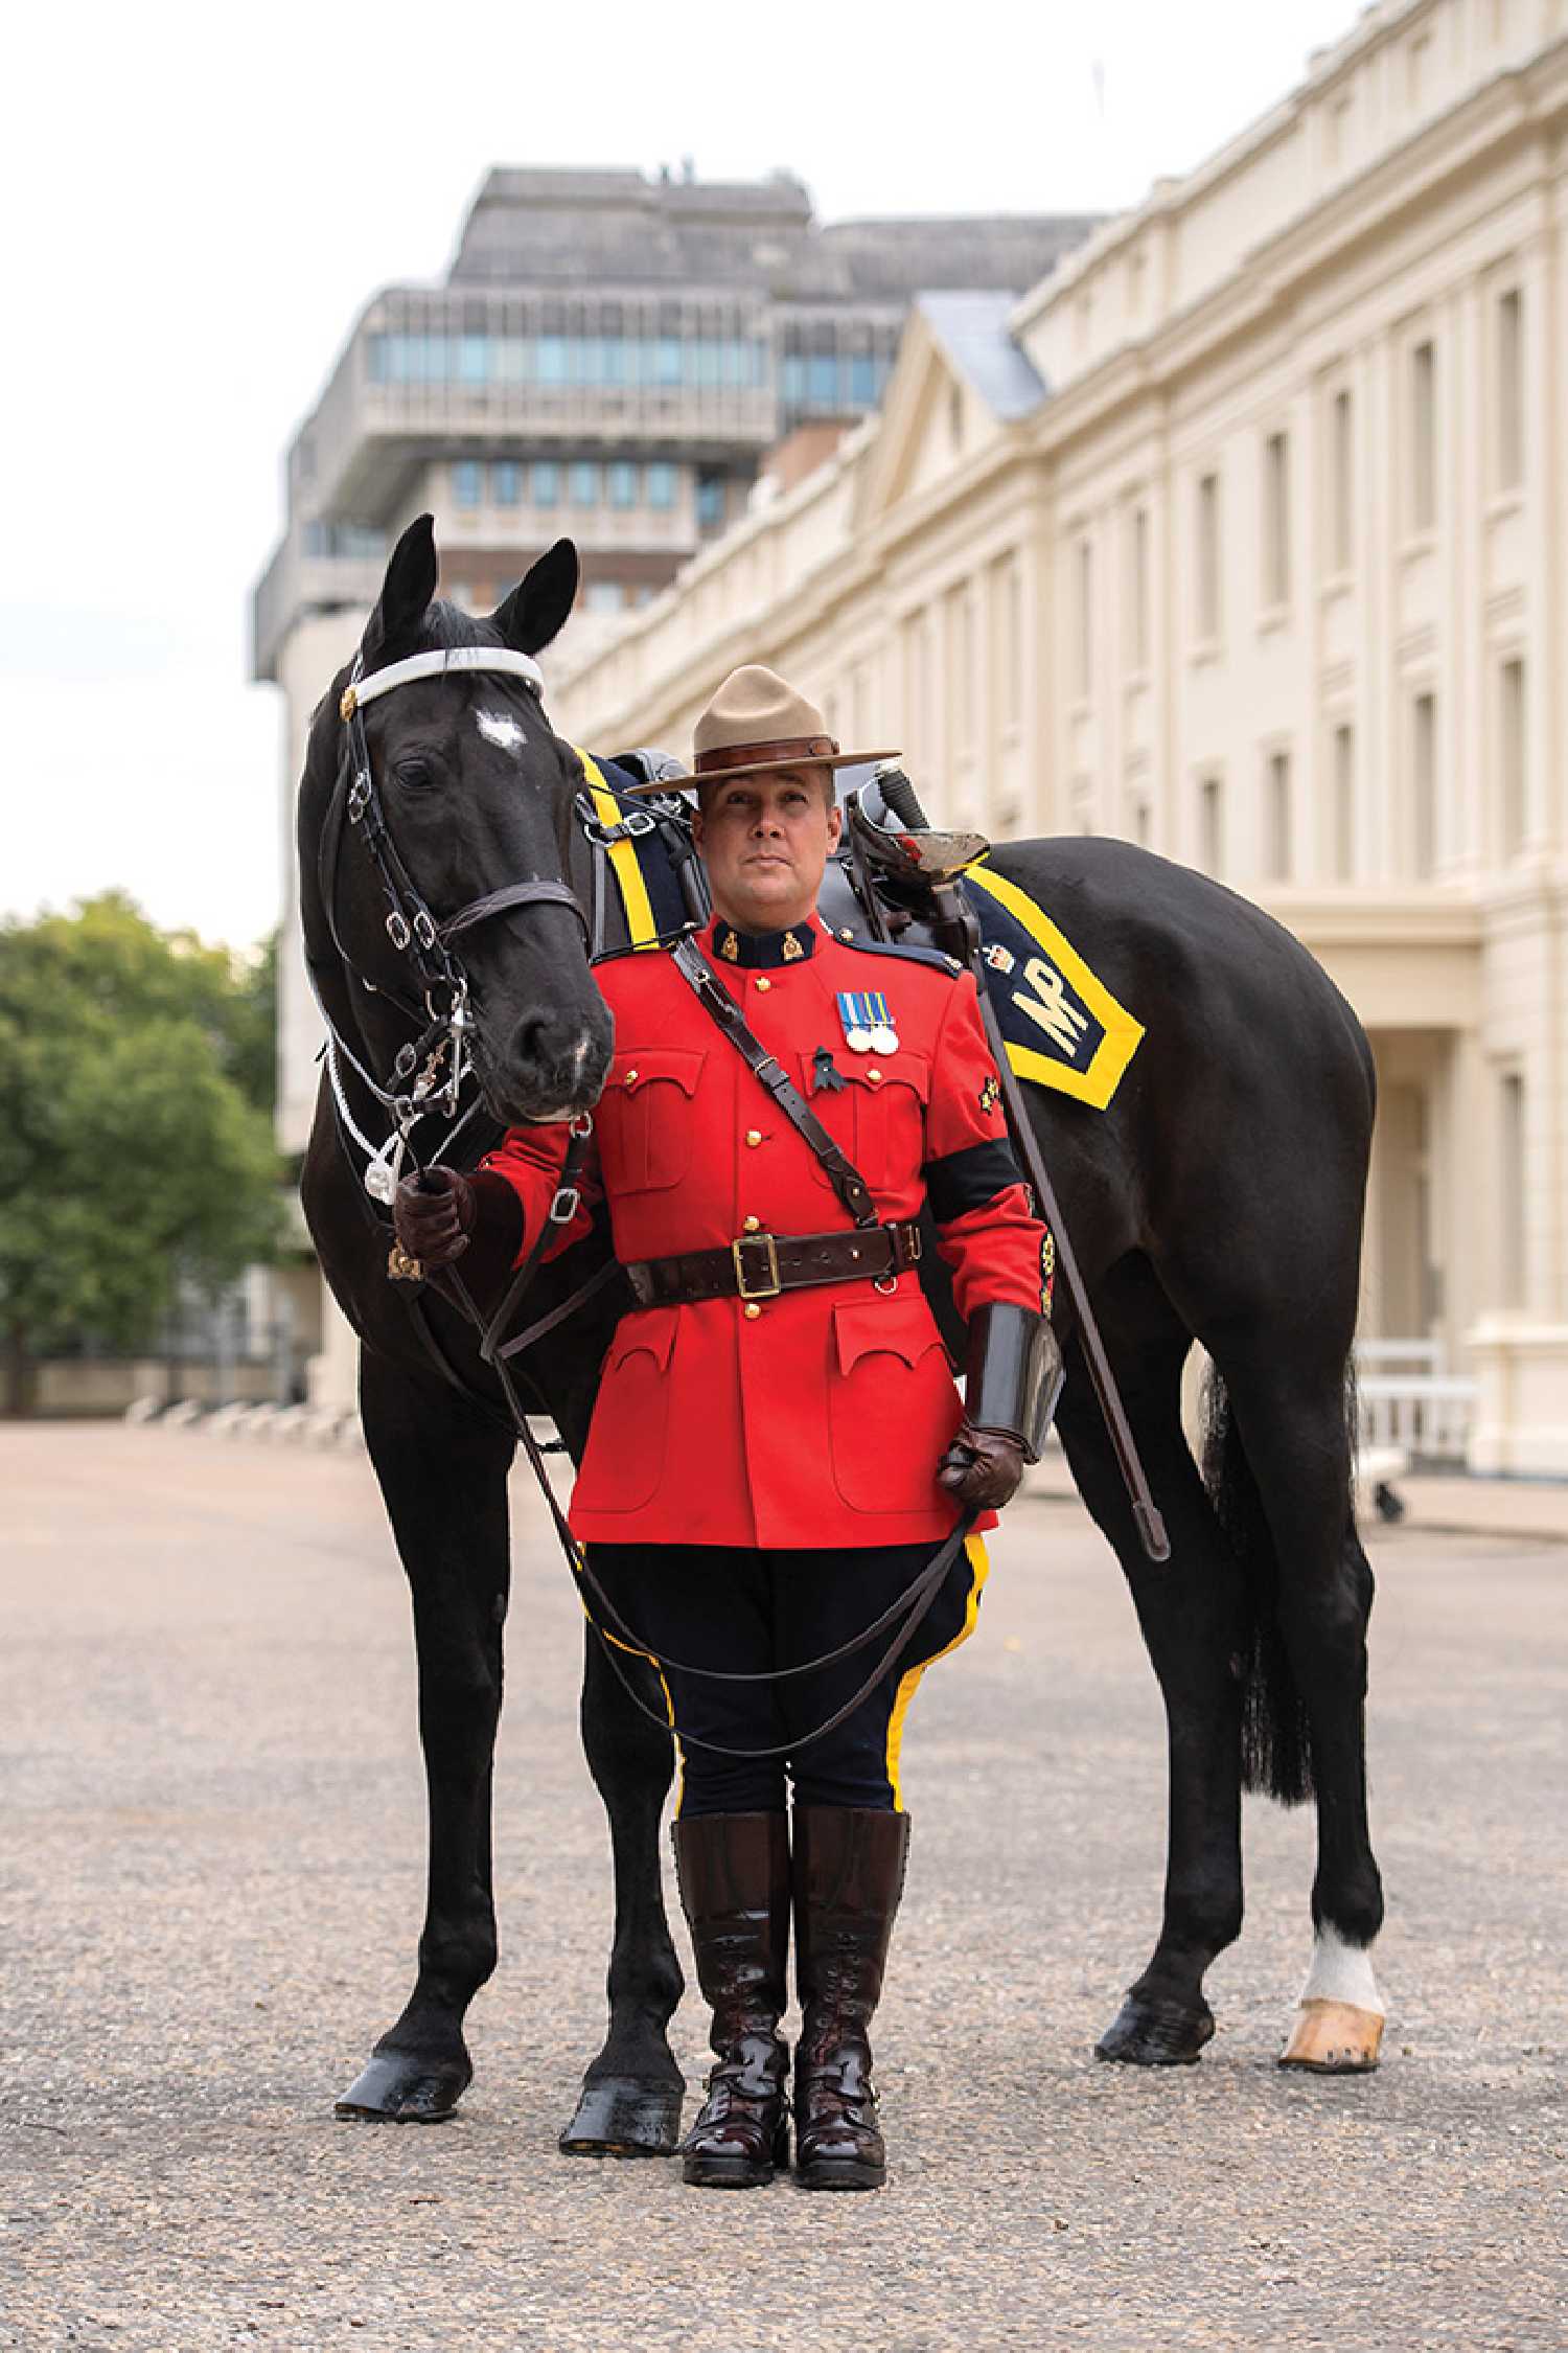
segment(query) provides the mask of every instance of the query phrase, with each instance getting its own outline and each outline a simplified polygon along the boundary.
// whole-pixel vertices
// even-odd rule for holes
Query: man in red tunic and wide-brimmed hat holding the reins
[[[1041,1445],[1060,1362],[1051,1242],[1006,1139],[973,979],[924,951],[849,946],[816,913],[842,824],[832,769],[863,758],[759,666],[731,673],[696,727],[715,904],[698,946],[870,1188],[860,1224],[670,953],[599,967],[616,1054],[597,1174],[637,1306],[604,1360],[571,1529],[654,1652],[759,1678],[665,1671],[684,1737],[677,1873],[719,2059],[684,2144],[701,2186],[788,2162],[790,1920],[799,2179],[884,2179],[867,2024],[910,1838],[903,1722],[924,1666],[976,1621],[980,1539],[832,1734],[806,1739],[875,1649],[766,1678],[896,1605],[964,1506],[992,1525]],[[473,1278],[501,1280],[538,1233],[564,1148],[564,1127],[512,1129],[475,1179],[404,1186],[400,1240],[425,1266],[473,1242]],[[926,1202],[969,1325],[964,1407],[914,1271]]]

